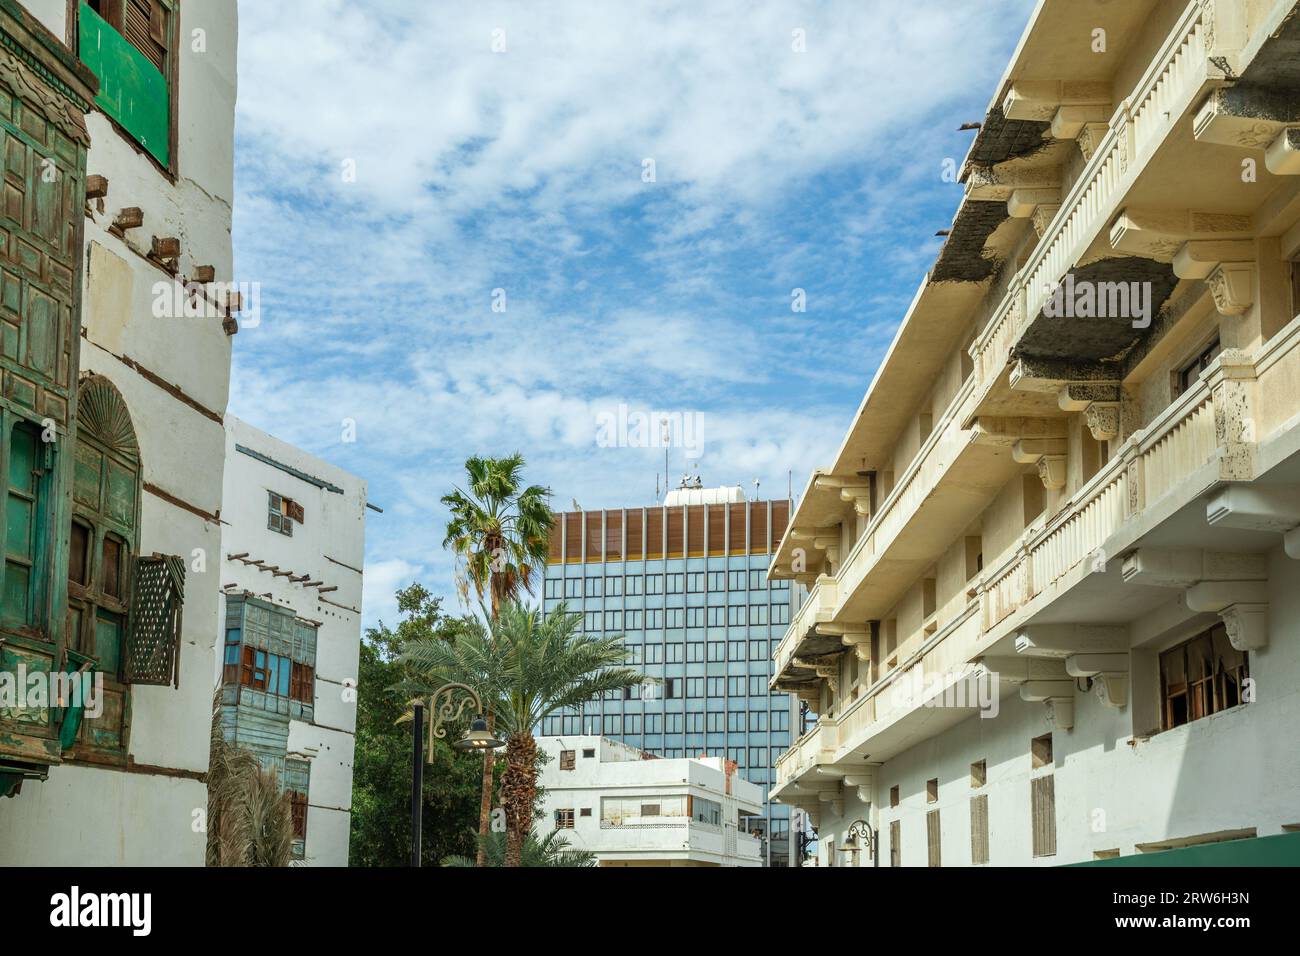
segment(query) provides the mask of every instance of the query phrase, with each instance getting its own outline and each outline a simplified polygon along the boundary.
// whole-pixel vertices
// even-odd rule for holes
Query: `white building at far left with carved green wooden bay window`
[[[0,701],[0,862],[202,865],[237,4],[0,0],[0,676],[101,680]]]

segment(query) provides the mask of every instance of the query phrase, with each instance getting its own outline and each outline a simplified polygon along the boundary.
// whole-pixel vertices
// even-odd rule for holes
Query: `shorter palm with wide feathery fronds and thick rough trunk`
[[[500,790],[507,866],[520,865],[533,826],[537,803],[533,727],[558,710],[641,683],[641,674],[621,666],[621,636],[581,633],[578,622],[580,617],[569,614],[564,605],[543,618],[538,609],[510,601],[500,606],[490,635],[482,628],[465,628],[454,644],[416,641],[403,653],[430,683],[462,680],[476,689],[482,687],[485,706],[491,701],[497,727],[506,736]],[[481,840],[480,855],[485,856],[485,851],[486,843]]]

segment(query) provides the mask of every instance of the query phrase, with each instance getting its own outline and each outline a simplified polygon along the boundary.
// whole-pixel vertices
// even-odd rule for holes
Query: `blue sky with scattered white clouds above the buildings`
[[[412,581],[459,607],[474,454],[556,510],[654,505],[668,414],[673,485],[798,494],[1032,5],[240,4],[230,411],[369,483],[364,624]]]

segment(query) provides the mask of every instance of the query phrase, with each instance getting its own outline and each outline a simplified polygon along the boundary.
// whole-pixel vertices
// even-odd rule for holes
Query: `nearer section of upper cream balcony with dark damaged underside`
[[[1240,7],[1188,3],[1132,94],[1084,125],[1082,173],[1058,207],[1037,207],[1052,213],[1036,220],[1039,242],[971,345],[974,415],[1034,401],[1026,414],[1057,414],[1071,385],[1084,406],[1104,401],[1167,332],[1156,319],[1180,280],[1206,281],[1225,313],[1249,307],[1254,238],[1280,212],[1266,198],[1300,174],[1300,104],[1282,68],[1300,26],[1292,0],[1277,0],[1248,34]],[[1243,177],[1244,161],[1257,163],[1257,179]],[[1202,200],[1212,209],[1178,208],[1205,182],[1222,185]],[[1084,286],[1113,291],[1115,313],[1062,315]],[[1140,312],[1130,290],[1149,293]]]

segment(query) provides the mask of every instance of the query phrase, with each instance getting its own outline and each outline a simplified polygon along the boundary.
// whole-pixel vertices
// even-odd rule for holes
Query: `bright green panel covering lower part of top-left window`
[[[82,62],[99,77],[95,101],[159,163],[170,166],[172,105],[166,78],[84,3],[79,33]]]

